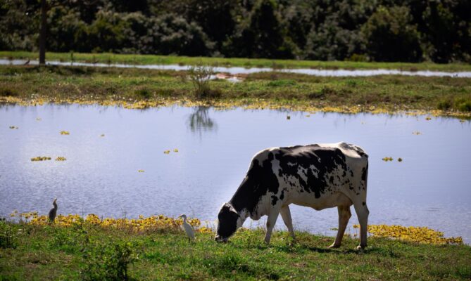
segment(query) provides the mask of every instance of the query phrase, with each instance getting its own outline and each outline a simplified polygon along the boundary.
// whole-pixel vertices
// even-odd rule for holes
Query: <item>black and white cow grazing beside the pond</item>
[[[296,204],[316,210],[337,207],[339,231],[330,247],[339,247],[353,204],[360,223],[358,248],[364,248],[369,214],[367,178],[368,155],[356,145],[332,143],[262,150],[253,157],[232,199],[222,205],[215,240],[226,242],[249,216],[258,220],[267,215],[265,242],[270,243],[280,213],[295,238],[289,204]]]

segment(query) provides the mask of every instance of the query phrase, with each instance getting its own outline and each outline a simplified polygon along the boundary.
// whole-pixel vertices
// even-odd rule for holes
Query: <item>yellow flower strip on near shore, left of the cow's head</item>
[[[18,213],[12,213],[13,216]],[[39,216],[37,211],[19,214],[26,223],[34,226],[46,226],[49,224],[47,216]],[[211,228],[201,226],[201,221],[198,218],[189,218],[187,222],[193,226],[196,232],[199,233],[212,233]],[[161,230],[177,230],[183,223],[180,218],[169,218],[168,216],[156,215],[139,218],[100,218],[96,214],[89,214],[85,218],[78,214],[68,214],[67,216],[57,215],[54,220],[55,226],[70,227],[80,223],[89,223],[93,226],[101,226],[102,228],[117,228],[132,230],[136,233],[161,231]]]

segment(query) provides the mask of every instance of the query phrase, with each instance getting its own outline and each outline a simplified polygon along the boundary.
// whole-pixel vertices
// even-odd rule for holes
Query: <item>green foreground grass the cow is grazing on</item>
[[[0,280],[87,280],[114,276],[129,263],[130,280],[469,280],[471,247],[434,246],[370,237],[358,240],[275,232],[239,231],[229,243],[198,234],[189,244],[182,232],[128,233],[84,225],[72,228],[3,223],[15,247],[0,247]],[[102,266],[106,265],[106,266]]]

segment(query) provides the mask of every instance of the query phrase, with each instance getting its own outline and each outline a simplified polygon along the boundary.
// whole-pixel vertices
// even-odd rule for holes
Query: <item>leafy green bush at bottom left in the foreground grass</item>
[[[131,242],[89,244],[84,251],[82,280],[130,280],[127,267],[139,259]]]

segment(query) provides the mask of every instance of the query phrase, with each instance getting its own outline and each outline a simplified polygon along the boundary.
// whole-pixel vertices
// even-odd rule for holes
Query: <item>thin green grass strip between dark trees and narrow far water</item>
[[[37,60],[38,53],[23,51],[0,51],[0,58]],[[126,65],[215,65],[224,67],[270,67],[270,68],[313,68],[371,70],[393,69],[405,71],[434,70],[445,72],[471,71],[471,65],[465,63],[369,63],[354,61],[319,61],[319,60],[270,60],[251,58],[204,58],[172,55],[124,55],[115,53],[46,53],[46,60],[82,63],[119,63]]]

